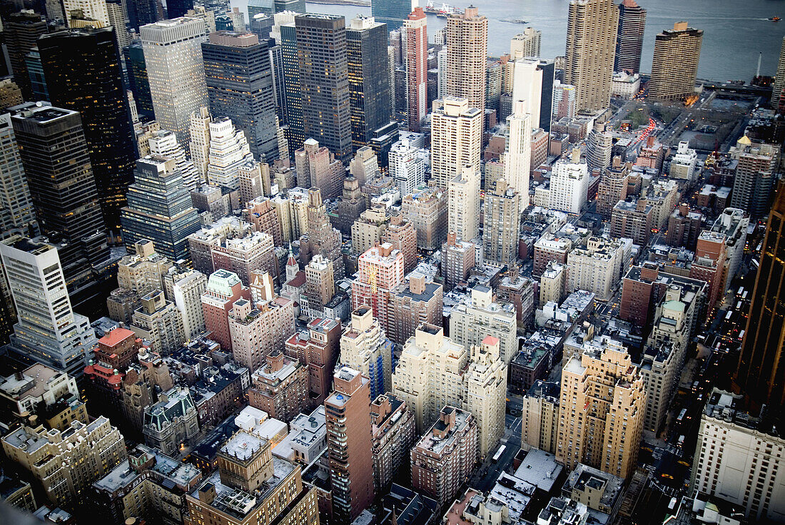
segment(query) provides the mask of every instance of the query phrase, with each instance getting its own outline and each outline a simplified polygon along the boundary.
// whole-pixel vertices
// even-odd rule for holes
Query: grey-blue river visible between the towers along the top
[[[385,0],[376,0],[384,2]],[[451,0],[466,7],[469,0]],[[480,14],[488,17],[488,53],[498,57],[509,53],[509,39],[531,25],[542,31],[542,57],[564,55],[569,0],[472,0]],[[425,5],[425,0],[420,0]],[[457,3],[462,2],[462,3]],[[434,2],[437,5],[440,2]],[[447,2],[450,3],[450,2]],[[619,3],[618,1],[616,3]],[[785,35],[785,0],[638,0],[647,9],[641,70],[651,71],[654,37],[659,31],[687,20],[703,29],[699,78],[714,81],[741,79],[755,74],[758,53],[763,53],[761,74],[774,75]],[[232,0],[232,6],[246,9],[247,0]],[[306,4],[310,13],[330,13],[352,18],[371,15],[370,7],[357,5]],[[767,20],[781,16],[781,22]],[[528,24],[505,20],[523,19]],[[446,21],[428,16],[428,32],[444,27]],[[433,41],[433,38],[429,38]]]

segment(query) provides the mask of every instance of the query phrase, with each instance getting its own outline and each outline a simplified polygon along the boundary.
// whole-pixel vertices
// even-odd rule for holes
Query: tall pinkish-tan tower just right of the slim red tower
[[[609,0],[610,1],[610,0]],[[447,16],[447,95],[469,100],[469,108],[485,111],[488,20],[469,5]]]

